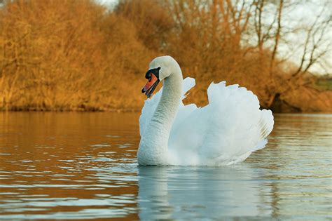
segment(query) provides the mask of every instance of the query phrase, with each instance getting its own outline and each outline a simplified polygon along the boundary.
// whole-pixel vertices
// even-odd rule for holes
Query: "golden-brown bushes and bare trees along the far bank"
[[[331,86],[309,72],[328,52],[329,18],[306,27],[293,64],[278,51],[283,12],[295,6],[269,2],[127,0],[107,11],[89,0],[5,1],[0,109],[139,110],[148,62],[168,54],[197,80],[187,102],[204,105],[209,83],[226,80],[265,108],[331,112]]]

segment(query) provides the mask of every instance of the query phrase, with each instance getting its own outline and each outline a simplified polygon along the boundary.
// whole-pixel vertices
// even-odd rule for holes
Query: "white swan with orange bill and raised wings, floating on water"
[[[137,161],[142,166],[223,166],[247,159],[267,144],[273,128],[270,110],[259,109],[256,95],[226,81],[211,83],[209,104],[184,105],[195,79],[183,79],[171,56],[154,58],[142,88],[147,100],[139,117],[141,140]],[[160,81],[163,86],[151,97]]]

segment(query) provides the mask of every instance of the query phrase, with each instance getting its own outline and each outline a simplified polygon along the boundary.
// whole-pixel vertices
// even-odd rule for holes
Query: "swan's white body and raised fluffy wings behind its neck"
[[[265,147],[273,127],[272,112],[260,110],[256,95],[238,85],[212,83],[207,90],[209,105],[186,105],[170,134],[174,164],[209,165],[243,161]]]

